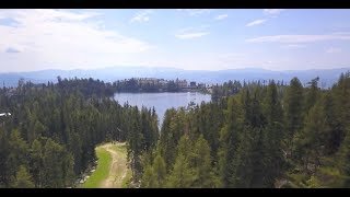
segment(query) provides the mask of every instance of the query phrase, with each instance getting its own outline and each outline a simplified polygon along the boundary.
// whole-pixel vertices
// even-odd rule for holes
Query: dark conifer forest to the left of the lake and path
[[[121,106],[93,79],[0,89],[0,187],[71,187],[94,164],[95,146],[143,134],[158,138],[154,111]],[[136,130],[136,121],[142,121]],[[132,140],[131,140],[131,146]],[[132,157],[131,157],[132,158]]]

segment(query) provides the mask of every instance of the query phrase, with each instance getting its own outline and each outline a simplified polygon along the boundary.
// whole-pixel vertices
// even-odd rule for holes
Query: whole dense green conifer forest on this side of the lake
[[[215,85],[160,130],[103,81],[20,81],[0,89],[0,187],[71,187],[110,140],[127,142],[129,187],[350,187],[350,73],[318,81]]]

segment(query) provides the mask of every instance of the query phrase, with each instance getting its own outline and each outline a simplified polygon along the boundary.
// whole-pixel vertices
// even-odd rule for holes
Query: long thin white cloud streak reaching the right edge
[[[249,43],[315,43],[326,40],[350,40],[350,33],[314,34],[314,35],[272,35],[246,39]]]

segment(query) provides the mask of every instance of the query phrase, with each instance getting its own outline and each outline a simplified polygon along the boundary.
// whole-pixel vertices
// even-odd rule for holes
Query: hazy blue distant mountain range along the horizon
[[[176,68],[161,67],[109,67],[93,70],[40,70],[32,72],[8,72],[0,73],[0,84],[5,86],[16,86],[21,78],[25,81],[34,83],[47,83],[48,81],[57,81],[57,77],[61,78],[94,78],[113,82],[116,80],[129,78],[159,78],[159,79],[186,79],[187,81],[196,81],[203,83],[223,83],[229,80],[253,81],[253,80],[279,80],[289,82],[293,77],[298,77],[302,83],[319,77],[323,88],[331,86],[339,79],[340,73],[350,71],[350,68],[340,69],[314,69],[314,70],[285,70],[272,71],[260,68],[231,69],[219,71],[205,70],[183,70]],[[2,85],[2,84],[1,84]]]

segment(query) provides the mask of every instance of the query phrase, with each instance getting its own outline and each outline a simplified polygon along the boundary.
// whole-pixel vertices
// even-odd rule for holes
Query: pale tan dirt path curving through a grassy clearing
[[[122,147],[125,143],[106,143],[101,148],[108,151],[112,155],[112,163],[109,166],[108,177],[102,182],[101,188],[120,188],[122,179],[127,175],[127,155],[119,151],[114,150],[113,147]]]

